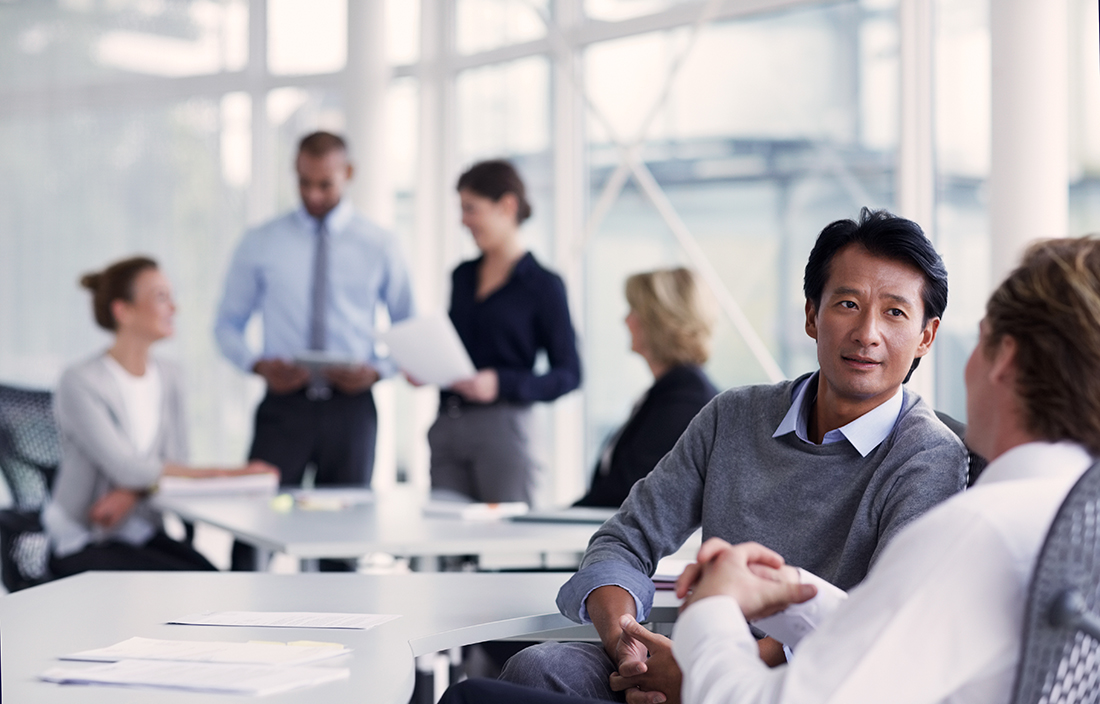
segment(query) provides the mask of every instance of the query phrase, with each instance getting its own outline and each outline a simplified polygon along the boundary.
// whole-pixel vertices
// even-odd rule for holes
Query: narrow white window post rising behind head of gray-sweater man
[[[898,215],[917,222],[936,242],[936,173],[933,72],[933,0],[901,0],[898,9],[899,96]],[[935,354],[921,361],[909,386],[935,403]]]

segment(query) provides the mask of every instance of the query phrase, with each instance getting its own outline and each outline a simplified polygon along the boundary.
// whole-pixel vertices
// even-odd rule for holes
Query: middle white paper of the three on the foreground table
[[[298,666],[351,652],[340,644],[221,642],[130,638],[95,650],[62,656],[62,660],[118,662],[119,660],[174,660],[177,662],[232,662],[237,664]]]

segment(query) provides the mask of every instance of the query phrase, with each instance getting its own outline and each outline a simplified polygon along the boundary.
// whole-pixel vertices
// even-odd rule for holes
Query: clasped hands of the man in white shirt
[[[798,570],[778,553],[756,542],[732,546],[712,538],[698,550],[695,564],[676,580],[682,608],[708,596],[733,596],[747,620],[777,614],[813,597],[817,587],[800,584]]]

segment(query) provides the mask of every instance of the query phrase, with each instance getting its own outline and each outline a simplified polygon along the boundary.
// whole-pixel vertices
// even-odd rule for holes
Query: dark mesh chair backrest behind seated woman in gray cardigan
[[[42,508],[61,459],[53,394],[0,385],[0,472],[18,508]]]

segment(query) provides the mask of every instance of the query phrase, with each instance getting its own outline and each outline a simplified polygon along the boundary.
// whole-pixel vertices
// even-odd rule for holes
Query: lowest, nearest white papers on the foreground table
[[[348,668],[121,660],[80,669],[51,668],[38,678],[61,684],[117,684],[260,696],[345,680],[350,674]]]

